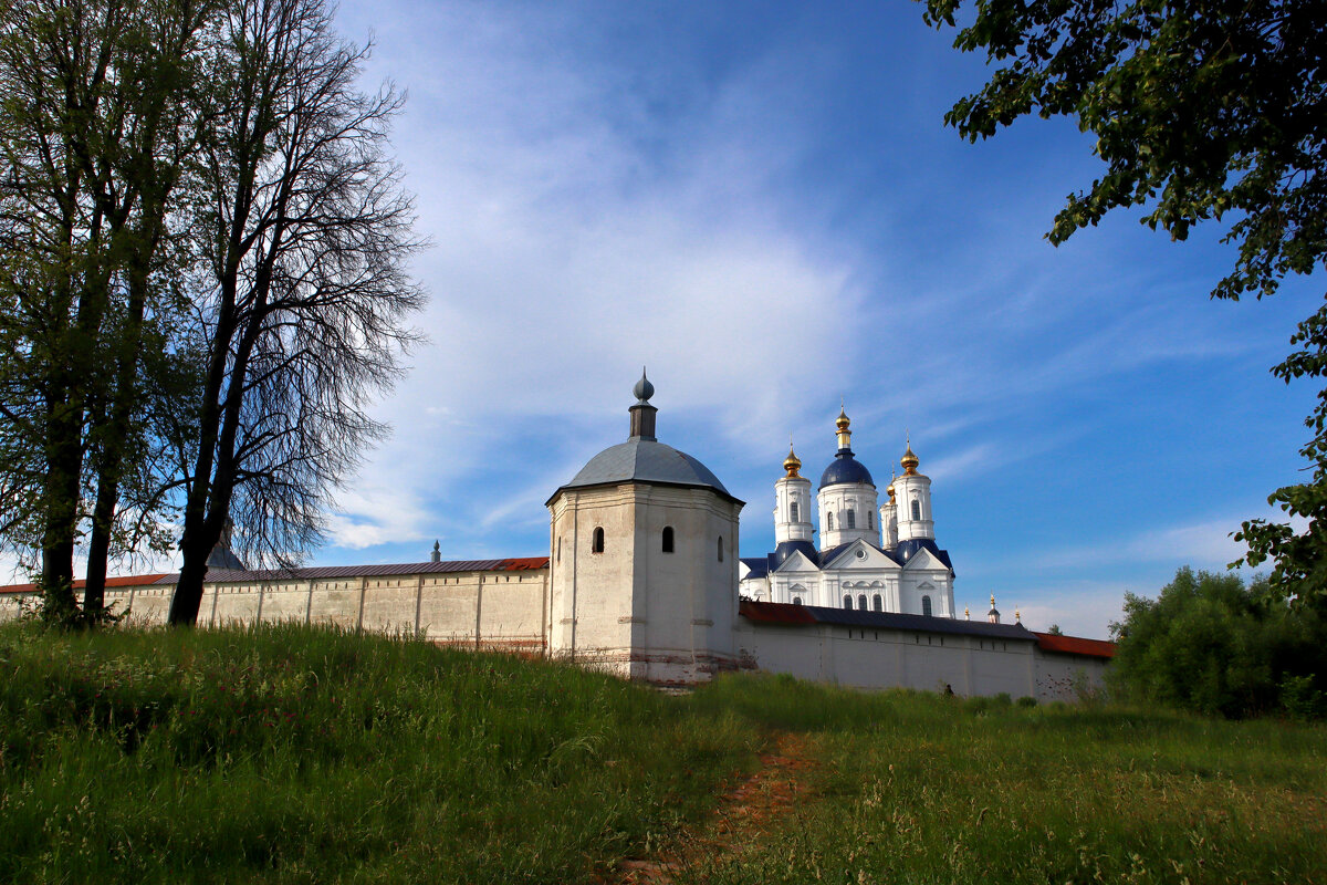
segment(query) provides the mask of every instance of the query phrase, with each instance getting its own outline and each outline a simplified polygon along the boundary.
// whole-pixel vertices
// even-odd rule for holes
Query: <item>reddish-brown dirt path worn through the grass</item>
[[[755,772],[719,800],[713,819],[685,832],[658,857],[624,861],[602,881],[618,885],[671,885],[701,858],[722,857],[750,845],[764,827],[791,813],[805,793],[807,774],[816,766],[805,735],[780,732]]]

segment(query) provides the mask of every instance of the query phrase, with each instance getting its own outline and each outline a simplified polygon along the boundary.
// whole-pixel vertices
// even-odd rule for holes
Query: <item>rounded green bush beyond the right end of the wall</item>
[[[1112,630],[1109,675],[1139,701],[1230,718],[1307,715],[1327,674],[1320,616],[1269,601],[1237,575],[1181,568],[1156,600],[1127,593]]]

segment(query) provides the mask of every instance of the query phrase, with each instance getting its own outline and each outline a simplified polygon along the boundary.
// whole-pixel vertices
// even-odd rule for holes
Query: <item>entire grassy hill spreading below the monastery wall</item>
[[[788,735],[795,800],[717,828]],[[0,629],[0,881],[1322,881],[1324,821],[1320,726]]]

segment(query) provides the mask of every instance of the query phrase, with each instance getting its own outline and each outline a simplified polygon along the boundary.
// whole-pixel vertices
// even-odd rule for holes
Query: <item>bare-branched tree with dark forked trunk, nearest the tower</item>
[[[365,49],[324,0],[236,0],[212,80],[224,114],[204,141],[204,261],[191,348],[204,356],[186,444],[183,567],[170,621],[198,618],[207,557],[230,519],[245,549],[292,563],[321,536],[334,488],[384,427],[423,303],[419,243],[387,158],[402,97],[356,89]]]

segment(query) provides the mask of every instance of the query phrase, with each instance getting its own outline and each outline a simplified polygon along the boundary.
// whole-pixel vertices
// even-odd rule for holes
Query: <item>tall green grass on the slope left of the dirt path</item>
[[[695,820],[733,716],[328,630],[0,630],[0,882],[557,882]]]

